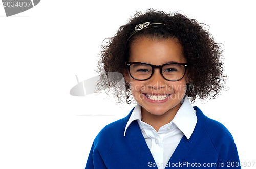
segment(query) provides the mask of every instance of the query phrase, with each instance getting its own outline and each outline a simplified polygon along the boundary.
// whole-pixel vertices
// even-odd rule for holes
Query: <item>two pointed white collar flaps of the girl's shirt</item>
[[[183,103],[182,103],[183,102]],[[177,111],[172,122],[182,131],[182,133],[189,139],[197,124],[196,111],[193,109],[190,101],[187,97],[182,100],[182,105]],[[130,116],[124,130],[123,136],[125,136],[127,128],[134,120],[141,120],[141,106],[139,104],[134,108],[132,115]]]

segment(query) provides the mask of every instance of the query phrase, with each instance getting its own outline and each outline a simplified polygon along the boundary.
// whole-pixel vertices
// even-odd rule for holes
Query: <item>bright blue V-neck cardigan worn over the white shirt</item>
[[[219,122],[206,117],[194,107],[198,118],[190,139],[182,137],[165,168],[241,168],[238,152],[229,131]],[[133,111],[133,110],[132,110]],[[123,136],[125,118],[105,126],[96,136],[86,169],[157,168],[137,121]]]

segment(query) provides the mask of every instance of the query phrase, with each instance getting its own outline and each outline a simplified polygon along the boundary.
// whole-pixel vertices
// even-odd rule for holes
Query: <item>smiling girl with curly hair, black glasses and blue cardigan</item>
[[[189,101],[216,97],[226,79],[220,46],[196,20],[137,12],[103,49],[100,85],[138,104],[100,131],[86,169],[241,168],[229,131]],[[110,72],[124,76],[124,90]]]

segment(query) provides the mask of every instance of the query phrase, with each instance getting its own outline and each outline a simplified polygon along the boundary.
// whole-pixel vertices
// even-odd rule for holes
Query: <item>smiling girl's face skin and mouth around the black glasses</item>
[[[132,42],[129,62],[145,62],[152,65],[186,63],[182,46],[177,39],[152,39],[142,37]],[[125,79],[130,83],[134,99],[142,107],[142,113],[163,115],[176,113],[186,93],[186,75],[179,81],[167,81],[160,69],[155,68],[152,77],[145,81],[133,79],[129,73]]]

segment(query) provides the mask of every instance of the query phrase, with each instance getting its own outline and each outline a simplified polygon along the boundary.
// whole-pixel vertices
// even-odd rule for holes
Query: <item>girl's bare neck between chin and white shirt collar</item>
[[[170,123],[174,119],[180,106],[181,103],[161,115],[152,114],[151,112],[148,112],[146,109],[141,107],[141,121],[151,125],[158,132],[160,127]]]

